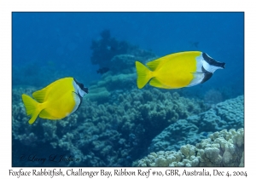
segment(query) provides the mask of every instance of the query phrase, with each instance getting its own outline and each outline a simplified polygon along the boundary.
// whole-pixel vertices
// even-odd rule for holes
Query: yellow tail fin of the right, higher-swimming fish
[[[139,61],[136,61],[135,65],[137,69],[137,87],[142,89],[148,83],[149,79],[153,77],[153,72],[148,70],[148,68]]]

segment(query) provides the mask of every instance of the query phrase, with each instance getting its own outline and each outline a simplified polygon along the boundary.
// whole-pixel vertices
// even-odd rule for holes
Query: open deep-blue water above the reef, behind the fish
[[[225,99],[244,93],[243,13],[13,13],[13,87],[40,89],[71,76],[90,91],[102,78],[90,46],[104,30],[156,56],[199,50],[226,63],[207,83],[180,90],[184,96],[200,98],[210,89],[228,91]]]

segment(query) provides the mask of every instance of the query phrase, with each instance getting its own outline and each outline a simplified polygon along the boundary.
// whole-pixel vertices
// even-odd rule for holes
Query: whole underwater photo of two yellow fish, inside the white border
[[[244,13],[13,12],[13,167],[243,167]]]

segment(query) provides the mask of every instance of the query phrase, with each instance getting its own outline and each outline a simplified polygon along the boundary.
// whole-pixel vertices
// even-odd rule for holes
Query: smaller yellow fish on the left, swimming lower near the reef
[[[33,124],[38,118],[61,119],[74,113],[80,106],[83,96],[88,94],[84,84],[75,78],[61,78],[49,84],[42,90],[29,95],[22,95],[26,107],[26,114],[32,118],[28,121]]]

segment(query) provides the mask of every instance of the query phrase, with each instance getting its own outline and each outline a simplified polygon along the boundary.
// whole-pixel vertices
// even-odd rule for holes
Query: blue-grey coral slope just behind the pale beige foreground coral
[[[218,103],[214,108],[198,115],[179,119],[152,140],[149,152],[177,150],[187,143],[195,145],[218,130],[239,129],[244,126],[244,97]],[[178,140],[177,140],[178,139]]]

